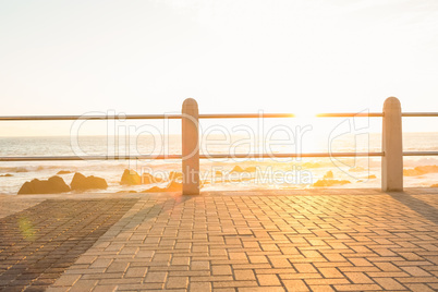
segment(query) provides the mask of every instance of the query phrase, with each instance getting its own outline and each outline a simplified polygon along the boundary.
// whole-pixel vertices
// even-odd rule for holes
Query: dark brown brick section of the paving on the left
[[[45,290],[136,202],[50,199],[1,218],[0,291]]]

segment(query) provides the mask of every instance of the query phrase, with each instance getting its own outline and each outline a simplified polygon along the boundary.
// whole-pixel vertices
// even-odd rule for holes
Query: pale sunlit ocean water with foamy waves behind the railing
[[[202,154],[230,153],[323,153],[323,151],[380,151],[381,134],[309,136],[297,141],[279,135],[270,144],[245,135],[203,136]],[[266,136],[265,138],[266,139]],[[438,151],[438,132],[403,133],[403,150]],[[48,136],[0,137],[0,156],[71,156],[71,155],[150,155],[181,154],[181,136]],[[232,171],[236,166],[247,172]],[[404,169],[419,166],[438,166],[438,157],[404,157]],[[157,184],[121,185],[124,169],[138,173],[149,172],[163,181]],[[48,179],[59,171],[70,184],[74,172],[104,178],[108,190],[144,192],[151,186],[168,183],[171,171],[181,171],[181,160],[115,160],[115,161],[33,161],[0,162],[0,194],[14,195],[24,182]],[[331,178],[332,185],[325,187],[380,187],[380,157],[372,158],[290,158],[290,159],[202,159],[203,191],[288,190],[320,187],[318,180]],[[331,173],[330,173],[331,172]],[[10,175],[5,175],[10,174]],[[410,174],[404,178],[406,187],[428,187],[438,183],[438,171]]]

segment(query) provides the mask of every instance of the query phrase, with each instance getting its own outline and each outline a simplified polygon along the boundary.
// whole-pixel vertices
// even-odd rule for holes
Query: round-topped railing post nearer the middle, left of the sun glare
[[[183,195],[199,194],[198,107],[193,98],[182,106],[182,173]]]

